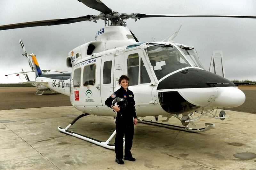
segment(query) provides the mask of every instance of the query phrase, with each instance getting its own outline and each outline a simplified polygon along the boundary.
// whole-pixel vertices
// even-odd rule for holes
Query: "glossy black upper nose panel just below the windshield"
[[[215,84],[209,84],[213,82]],[[165,78],[163,81],[159,82],[157,89],[186,89],[230,86],[236,87],[233,82],[221,77],[220,75],[205,70],[189,68]]]

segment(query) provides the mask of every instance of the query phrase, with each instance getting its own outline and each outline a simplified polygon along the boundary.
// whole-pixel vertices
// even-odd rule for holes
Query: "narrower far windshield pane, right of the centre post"
[[[196,51],[194,51],[194,48],[191,47],[182,47],[179,46],[181,51],[186,55],[186,57],[188,58],[188,60],[195,66],[195,67],[200,67],[202,69],[204,69],[203,64],[201,63],[201,61],[199,60],[199,57],[196,53]]]

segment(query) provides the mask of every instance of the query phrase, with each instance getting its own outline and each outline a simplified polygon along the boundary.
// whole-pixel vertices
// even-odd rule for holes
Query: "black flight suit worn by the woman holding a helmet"
[[[120,108],[120,112],[117,112],[116,117],[116,138],[115,138],[115,152],[116,158],[123,159],[123,157],[132,157],[132,139],[134,134],[133,120],[137,118],[135,112],[135,101],[133,99],[134,95],[131,90],[127,88],[127,91],[121,86],[115,93],[107,98],[105,104],[111,107],[112,101],[116,97],[121,97],[125,99],[126,107]],[[123,155],[123,137],[125,135],[125,149]]]

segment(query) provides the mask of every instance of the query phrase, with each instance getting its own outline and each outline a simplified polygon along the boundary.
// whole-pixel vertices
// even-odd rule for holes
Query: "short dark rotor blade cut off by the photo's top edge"
[[[86,6],[95,9],[97,11],[103,12],[105,14],[112,13],[112,10],[103,4],[100,0],[78,0]]]

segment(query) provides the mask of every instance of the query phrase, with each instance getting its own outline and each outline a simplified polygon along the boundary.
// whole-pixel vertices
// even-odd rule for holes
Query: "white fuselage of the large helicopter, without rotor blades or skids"
[[[135,94],[139,117],[184,115],[244,103],[244,93],[231,81],[205,71],[188,46],[174,42],[138,43],[129,29],[121,26],[118,29],[126,33],[118,36],[115,32],[111,40],[113,30],[109,29],[116,27],[105,27],[97,41],[68,53],[70,79],[37,77],[37,81],[48,81],[46,86],[68,95],[76,109],[98,116],[116,116],[104,103],[121,87],[118,79],[123,74],[130,78],[129,89]]]

